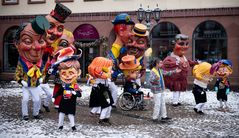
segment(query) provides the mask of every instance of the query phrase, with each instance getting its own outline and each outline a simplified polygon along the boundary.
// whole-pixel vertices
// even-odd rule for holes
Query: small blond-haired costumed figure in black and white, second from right
[[[200,115],[203,115],[203,108],[207,102],[207,85],[212,81],[214,71],[212,71],[212,65],[207,62],[201,62],[193,67],[194,85],[193,95],[196,102],[194,111]]]

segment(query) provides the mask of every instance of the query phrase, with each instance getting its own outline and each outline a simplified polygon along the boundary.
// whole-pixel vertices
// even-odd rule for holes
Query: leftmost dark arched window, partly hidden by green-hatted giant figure
[[[3,37],[3,71],[14,72],[17,66],[18,52],[14,45],[14,34],[18,26],[7,29]]]

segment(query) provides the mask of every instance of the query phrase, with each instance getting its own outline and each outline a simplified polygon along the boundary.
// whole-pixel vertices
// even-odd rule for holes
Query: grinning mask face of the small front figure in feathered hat
[[[59,75],[60,75],[60,79],[64,83],[71,84],[77,80],[80,74],[81,74],[80,70],[76,70],[75,68],[71,67],[68,69],[61,69]]]

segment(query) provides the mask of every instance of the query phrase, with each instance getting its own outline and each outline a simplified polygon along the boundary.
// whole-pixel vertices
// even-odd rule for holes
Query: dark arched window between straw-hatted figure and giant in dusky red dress
[[[153,49],[152,56],[163,60],[173,51],[172,40],[177,34],[180,34],[180,31],[173,23],[161,22],[154,26],[150,33],[150,45]]]

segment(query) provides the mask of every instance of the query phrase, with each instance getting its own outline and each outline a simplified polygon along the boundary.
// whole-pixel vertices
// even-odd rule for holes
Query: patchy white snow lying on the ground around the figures
[[[82,98],[88,100],[91,87],[81,85],[83,90]],[[145,94],[150,92],[149,89],[142,89]],[[119,93],[122,89],[119,88]],[[0,88],[0,97],[20,97],[21,89],[15,84],[8,88]],[[152,97],[152,93],[150,93]],[[215,110],[219,106],[216,99],[216,93],[207,92],[205,107],[206,117],[193,118],[176,118],[172,124],[167,125],[128,125],[128,126],[110,126],[103,127],[92,124],[80,124],[76,122],[77,132],[72,132],[68,123],[65,124],[63,131],[56,130],[57,122],[51,119],[22,121],[17,118],[5,118],[3,112],[0,112],[0,138],[8,137],[95,137],[95,138],[150,138],[150,137],[239,137],[239,93],[231,92],[228,96],[228,106],[230,112],[219,112]],[[172,92],[166,92],[166,103],[171,103]],[[180,99],[186,109],[192,110],[195,105],[194,97],[191,91],[181,93]],[[219,116],[222,119],[215,119]],[[228,128],[221,128],[223,127]],[[217,128],[218,129],[215,129]],[[201,135],[200,135],[201,133]],[[166,135],[165,135],[166,134]],[[168,134],[168,135],[167,135]]]

